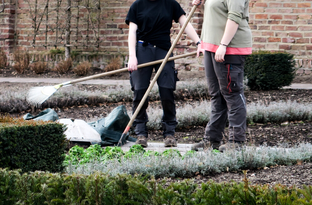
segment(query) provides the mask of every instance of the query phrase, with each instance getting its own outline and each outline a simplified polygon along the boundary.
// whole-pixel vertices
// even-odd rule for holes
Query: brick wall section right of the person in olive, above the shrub
[[[254,50],[295,55],[298,73],[311,73],[312,0],[250,0]]]

